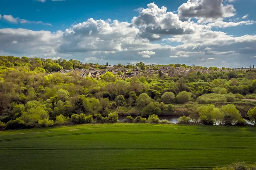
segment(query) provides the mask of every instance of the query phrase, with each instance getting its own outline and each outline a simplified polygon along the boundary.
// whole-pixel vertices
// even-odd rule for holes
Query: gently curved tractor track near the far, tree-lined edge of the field
[[[0,142],[3,141],[16,141],[16,140],[24,140],[24,139],[32,139],[32,138],[48,138],[48,137],[59,137],[59,136],[71,136],[71,135],[90,135],[90,134],[108,134],[108,133],[126,133],[126,134],[140,134],[140,133],[157,133],[157,134],[182,134],[182,135],[208,135],[208,136],[224,136],[224,137],[238,137],[238,138],[256,138],[256,135],[224,135],[224,134],[200,134],[200,133],[178,133],[178,132],[163,132],[163,131],[108,131],[108,132],[84,132],[84,133],[64,133],[64,134],[56,134],[56,135],[42,135],[42,136],[31,136],[31,137],[23,137],[23,138],[9,138],[9,139],[0,139]]]

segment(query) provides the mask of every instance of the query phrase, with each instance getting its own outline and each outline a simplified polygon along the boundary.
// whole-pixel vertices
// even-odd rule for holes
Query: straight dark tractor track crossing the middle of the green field
[[[140,151],[140,150],[233,150],[255,149],[255,147],[195,147],[195,148],[53,148],[53,147],[0,147],[0,150],[99,150],[99,151]]]

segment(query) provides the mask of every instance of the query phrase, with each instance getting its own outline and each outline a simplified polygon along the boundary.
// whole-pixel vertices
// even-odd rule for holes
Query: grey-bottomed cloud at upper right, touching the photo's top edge
[[[233,17],[236,9],[233,5],[223,5],[223,0],[188,0],[178,8],[181,18],[196,18],[198,23],[207,23]]]

